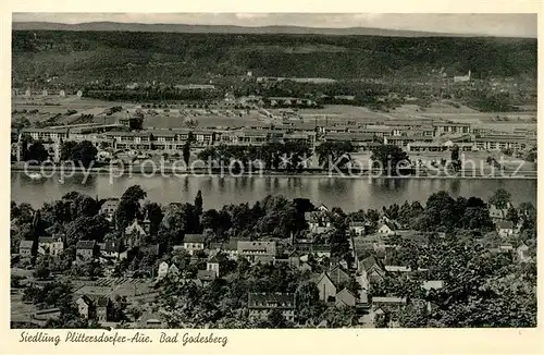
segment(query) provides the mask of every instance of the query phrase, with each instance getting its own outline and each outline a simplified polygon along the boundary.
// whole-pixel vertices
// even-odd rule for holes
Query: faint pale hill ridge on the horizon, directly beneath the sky
[[[52,22],[14,22],[13,30],[120,30],[120,32],[166,32],[184,34],[293,34],[293,35],[327,35],[327,36],[388,36],[388,37],[473,37],[473,35],[430,33],[417,30],[396,30],[367,27],[320,28],[299,26],[213,26],[184,24],[140,24],[119,22],[88,22],[81,24],[63,24]]]

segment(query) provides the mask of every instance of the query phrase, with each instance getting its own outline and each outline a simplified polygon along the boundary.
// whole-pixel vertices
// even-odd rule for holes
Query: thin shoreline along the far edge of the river
[[[54,167],[54,168],[53,168]],[[305,169],[299,172],[289,172],[286,170],[262,170],[262,171],[247,171],[247,172],[233,172],[230,173],[228,169],[207,169],[207,168],[193,168],[193,169],[173,169],[171,167],[162,167],[161,169],[144,169],[141,166],[128,166],[123,169],[112,169],[109,166],[99,167],[99,168],[90,168],[90,169],[82,169],[77,174],[109,174],[112,178],[126,178],[133,175],[149,175],[153,174],[153,176],[162,176],[162,178],[321,178],[321,179],[437,179],[437,180],[470,180],[470,179],[493,179],[493,180],[537,180],[536,171],[521,171],[517,172],[516,175],[510,172],[504,172],[504,174],[489,174],[489,172],[482,173],[481,171],[473,172],[460,172],[457,175],[444,175],[436,173],[429,173],[424,170],[417,171],[416,174],[406,174],[406,175],[380,175],[372,173],[370,171],[356,171],[348,169],[344,169],[338,171],[335,170],[323,170],[323,169]],[[29,166],[24,167],[24,164],[11,164],[10,172],[39,172],[41,174],[47,174],[47,176],[42,176],[41,179],[52,178],[54,175],[59,175],[63,170],[61,170],[61,166],[49,166],[49,167],[36,167]],[[71,171],[67,171],[71,172]],[[65,174],[65,178],[72,178],[75,174]]]

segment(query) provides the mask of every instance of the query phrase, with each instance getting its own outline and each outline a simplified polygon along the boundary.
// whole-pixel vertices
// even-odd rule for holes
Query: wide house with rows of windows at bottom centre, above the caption
[[[282,316],[290,322],[295,321],[295,294],[293,293],[249,293],[249,319],[267,320],[269,314],[279,309]]]

